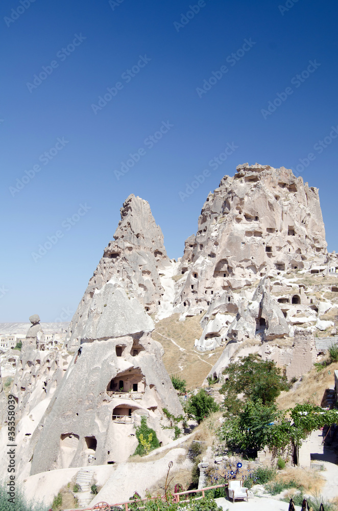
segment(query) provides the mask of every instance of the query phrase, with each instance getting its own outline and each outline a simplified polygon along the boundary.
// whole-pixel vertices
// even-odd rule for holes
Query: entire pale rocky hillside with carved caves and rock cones
[[[291,170],[245,164],[225,176],[178,261],[147,201],[130,195],[120,213],[65,345],[44,342],[36,323],[8,359],[21,477],[125,461],[142,417],[166,445],[163,410],[182,412],[171,374],[193,389],[258,353],[298,378],[336,342],[338,259],[318,190]]]

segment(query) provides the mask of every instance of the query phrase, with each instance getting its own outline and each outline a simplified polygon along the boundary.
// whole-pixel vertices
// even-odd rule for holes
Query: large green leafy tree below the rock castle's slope
[[[272,405],[282,390],[288,390],[286,377],[272,360],[260,360],[258,355],[240,357],[224,371],[228,376],[220,392],[225,394],[225,408],[239,407],[236,396],[244,393],[251,401],[260,400],[263,405]]]

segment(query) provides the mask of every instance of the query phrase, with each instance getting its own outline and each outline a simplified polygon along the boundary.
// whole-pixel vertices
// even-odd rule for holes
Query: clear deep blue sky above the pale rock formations
[[[312,153],[302,176],[320,189],[328,248],[338,249],[337,4],[119,2],[1,3],[0,321],[74,312],[130,193],[150,202],[168,255],[180,257],[208,192],[246,161],[296,168]],[[82,216],[80,204],[90,207]]]

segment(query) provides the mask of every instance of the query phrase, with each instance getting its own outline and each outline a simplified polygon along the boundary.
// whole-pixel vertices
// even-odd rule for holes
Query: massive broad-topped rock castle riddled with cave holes
[[[269,272],[309,268],[313,255],[325,260],[326,246],[317,188],[284,167],[240,165],[209,193],[186,240],[174,311],[199,314]]]

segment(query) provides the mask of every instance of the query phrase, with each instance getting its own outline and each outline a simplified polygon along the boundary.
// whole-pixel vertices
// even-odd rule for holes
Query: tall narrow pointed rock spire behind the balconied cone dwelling
[[[75,351],[87,322],[95,290],[115,276],[149,313],[156,312],[164,294],[159,273],[169,265],[163,234],[151,213],[149,203],[131,194],[120,210],[121,220],[104,250],[98,267],[71,321],[67,346]]]

